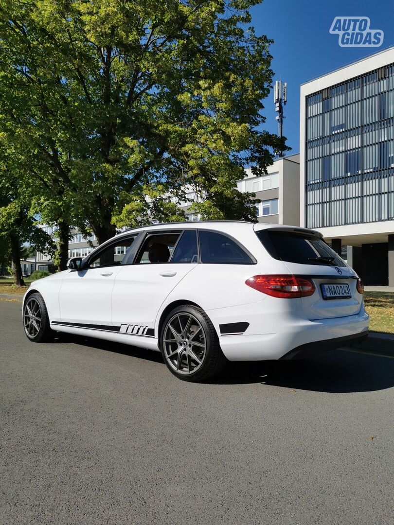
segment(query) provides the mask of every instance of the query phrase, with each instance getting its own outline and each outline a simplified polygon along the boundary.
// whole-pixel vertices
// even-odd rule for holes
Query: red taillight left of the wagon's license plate
[[[247,279],[245,284],[259,292],[285,299],[308,297],[316,289],[312,281],[295,275],[255,275]]]

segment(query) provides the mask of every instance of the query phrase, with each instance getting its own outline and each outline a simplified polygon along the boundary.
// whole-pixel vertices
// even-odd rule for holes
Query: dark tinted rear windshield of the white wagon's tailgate
[[[260,230],[257,237],[275,259],[298,264],[346,266],[324,240],[306,233]]]

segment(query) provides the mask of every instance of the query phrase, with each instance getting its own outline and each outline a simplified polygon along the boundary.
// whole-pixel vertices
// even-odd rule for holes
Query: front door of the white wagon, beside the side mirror
[[[82,269],[69,270],[59,293],[61,323],[80,328],[111,326],[113,283],[135,238],[121,235],[92,252]]]

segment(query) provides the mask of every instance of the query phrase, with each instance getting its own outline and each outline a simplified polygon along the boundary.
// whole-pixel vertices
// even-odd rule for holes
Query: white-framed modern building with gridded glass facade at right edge
[[[300,225],[394,286],[394,47],[301,86]]]

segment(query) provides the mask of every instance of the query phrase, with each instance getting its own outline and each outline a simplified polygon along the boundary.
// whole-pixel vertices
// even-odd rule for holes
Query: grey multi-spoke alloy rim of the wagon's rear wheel
[[[175,314],[164,327],[164,356],[171,368],[183,375],[203,364],[206,339],[201,323],[190,313]]]

